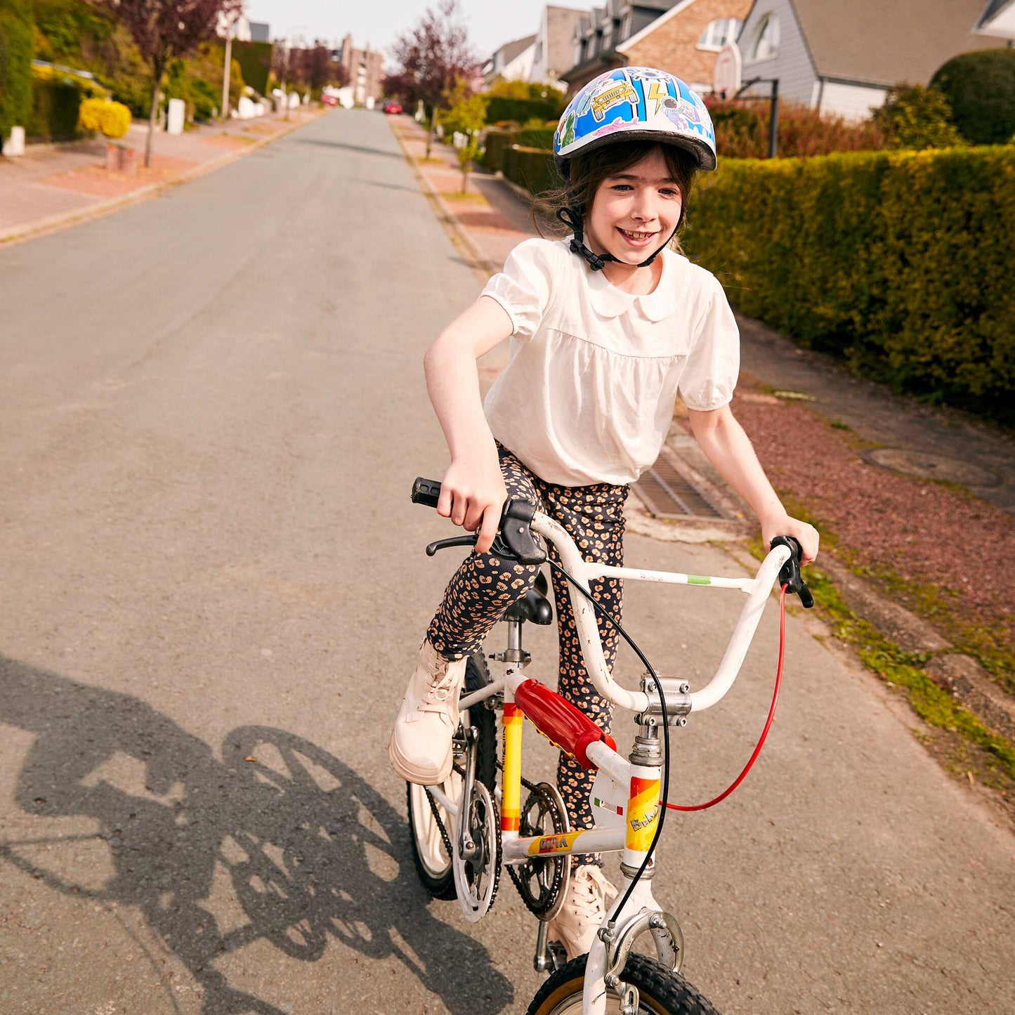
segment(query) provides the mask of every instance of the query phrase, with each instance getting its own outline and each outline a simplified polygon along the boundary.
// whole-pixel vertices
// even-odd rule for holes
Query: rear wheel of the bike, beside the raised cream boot
[[[485,687],[490,682],[490,673],[481,652],[473,653],[465,666],[465,692],[471,693]],[[471,723],[479,732],[476,742],[476,779],[493,793],[497,776],[497,720],[496,715],[486,707],[485,702],[462,714],[463,723]],[[451,800],[462,798],[464,780],[455,770],[444,784],[444,792]],[[432,803],[432,807],[431,807]],[[412,861],[423,887],[434,897],[453,899],[455,874],[451,857],[445,844],[437,817],[451,835],[451,821],[448,812],[426,792],[425,787],[406,784],[406,809],[409,812],[409,827],[412,834]]]

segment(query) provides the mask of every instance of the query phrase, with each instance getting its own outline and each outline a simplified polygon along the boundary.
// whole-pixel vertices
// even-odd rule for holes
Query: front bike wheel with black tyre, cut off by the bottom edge
[[[582,990],[588,955],[580,955],[557,969],[532,999],[527,1015],[581,1015]],[[632,954],[623,978],[638,991],[638,1015],[719,1015],[707,998],[691,987],[679,972],[671,972],[655,959]],[[620,999],[607,995],[606,1010],[615,1015]]]

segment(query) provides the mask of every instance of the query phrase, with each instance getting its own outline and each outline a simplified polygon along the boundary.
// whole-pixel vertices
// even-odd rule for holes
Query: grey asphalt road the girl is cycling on
[[[455,562],[407,498],[445,463],[420,355],[478,288],[368,113],[0,250],[4,1015],[525,1010],[533,922],[506,883],[476,926],[427,901],[385,749]],[[628,561],[739,571],[640,537]],[[631,589],[627,616],[699,683],[739,605]],[[688,977],[727,1013],[1015,1010],[1011,833],[788,627],[754,772],[669,824]],[[680,734],[672,799],[739,771],[775,645],[768,616]]]

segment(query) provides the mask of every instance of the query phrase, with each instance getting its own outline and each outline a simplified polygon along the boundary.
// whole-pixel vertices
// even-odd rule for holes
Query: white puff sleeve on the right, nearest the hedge
[[[680,377],[679,391],[688,409],[719,409],[733,398],[740,374],[740,331],[719,279],[712,276],[708,304],[694,330]]]

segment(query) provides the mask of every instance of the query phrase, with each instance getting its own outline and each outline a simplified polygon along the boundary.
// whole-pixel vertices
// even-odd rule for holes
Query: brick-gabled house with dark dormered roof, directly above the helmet
[[[716,57],[737,38],[750,7],[751,0],[607,0],[576,27],[568,94],[625,65],[666,70],[710,91]]]

